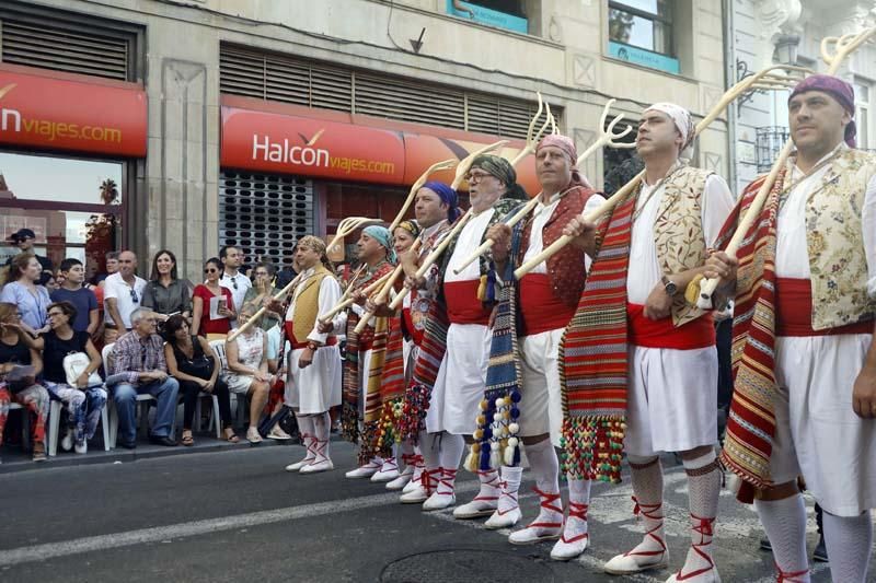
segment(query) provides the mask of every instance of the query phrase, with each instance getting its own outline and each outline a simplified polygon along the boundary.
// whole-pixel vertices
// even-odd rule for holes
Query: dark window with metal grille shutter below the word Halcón
[[[284,265],[296,242],[315,232],[313,183],[295,176],[222,171],[219,245],[243,249],[247,260]]]

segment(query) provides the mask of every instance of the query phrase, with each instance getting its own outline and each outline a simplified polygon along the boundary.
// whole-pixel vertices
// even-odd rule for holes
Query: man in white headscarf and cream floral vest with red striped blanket
[[[606,563],[612,574],[667,565],[659,454],[681,453],[692,546],[668,581],[701,582],[718,581],[718,362],[711,314],[683,290],[703,271],[734,199],[724,179],[680,159],[693,133],[682,107],[650,106],[636,138],[644,182],[599,229],[583,219],[567,226],[572,235],[584,230],[577,242],[597,255],[562,349],[563,438],[567,470],[590,479],[620,481],[626,452],[646,534]]]

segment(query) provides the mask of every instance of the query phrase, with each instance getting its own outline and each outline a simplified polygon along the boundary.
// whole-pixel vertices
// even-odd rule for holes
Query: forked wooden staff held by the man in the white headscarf
[[[788,71],[791,73],[794,72],[802,72],[802,73],[811,73],[809,69],[805,69],[803,67],[793,67],[788,65],[779,65],[774,67],[769,67],[759,71],[758,73],[747,77],[736,83],[733,88],[727,90],[726,93],[721,97],[718,103],[712,108],[708,115],[703,118],[696,125],[694,129],[694,136],[699,136],[702,133],[717,117],[730,105],[735,100],[737,100],[740,95],[753,91],[753,90],[786,90],[792,89],[796,83],[799,81],[799,77],[793,77],[792,74],[781,73],[776,71]],[[645,171],[643,170],[639,172],[632,180],[623,185],[621,188],[618,189],[614,195],[612,195],[607,201],[600,205],[598,208],[593,209],[592,211],[588,212],[584,215],[584,219],[588,222],[596,222],[598,221],[603,214],[608,214],[611,210],[622,200],[626,199],[626,197],[638,187],[638,183],[645,177]],[[525,263],[517,270],[514,272],[515,278],[518,280],[529,273],[532,269],[535,268],[542,261],[548,260],[549,257],[555,255],[560,249],[565,247],[569,244],[573,237],[568,235],[561,235],[553,244],[545,247],[539,255],[530,259],[529,261]]]

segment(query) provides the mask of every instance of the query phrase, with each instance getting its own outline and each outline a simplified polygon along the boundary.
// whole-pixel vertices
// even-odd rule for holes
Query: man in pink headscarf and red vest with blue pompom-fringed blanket
[[[466,465],[476,467],[483,483],[494,485],[502,466],[503,487],[500,494],[494,489],[493,495],[475,498],[453,512],[458,518],[491,515],[486,527],[493,529],[517,524],[521,517],[517,495],[522,473],[517,465],[517,447],[522,439],[541,509],[538,518],[512,533],[509,540],[527,545],[562,535],[551,553],[556,559],[577,557],[588,540],[590,481],[569,476],[569,515],[564,528],[560,460],[554,450],[561,446],[563,425],[560,341],[584,290],[587,257],[569,245],[520,282],[514,281],[514,270],[556,241],[572,218],[606,201],[580,176],[577,159],[569,138],[544,138],[535,148],[535,174],[542,188],[539,203],[514,233],[503,223],[488,234],[496,242],[493,259],[505,284],[493,330],[482,423]],[[494,456],[496,451],[498,455]]]

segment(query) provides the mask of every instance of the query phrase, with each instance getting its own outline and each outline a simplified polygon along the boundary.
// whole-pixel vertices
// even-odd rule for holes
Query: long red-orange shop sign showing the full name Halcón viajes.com
[[[220,160],[230,168],[404,186],[436,162],[461,160],[498,140],[228,95],[222,104]],[[523,145],[516,140],[498,153],[510,160]],[[534,156],[517,174],[528,193],[539,191]],[[445,171],[433,178],[449,184],[453,176]]]

